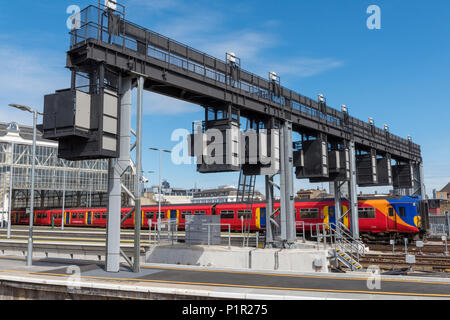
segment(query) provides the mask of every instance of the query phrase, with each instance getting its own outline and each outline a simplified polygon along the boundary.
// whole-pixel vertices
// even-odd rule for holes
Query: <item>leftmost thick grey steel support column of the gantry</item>
[[[121,176],[130,165],[131,136],[131,78],[121,78],[120,88],[120,140],[119,159],[108,162],[108,222],[106,229],[106,271],[119,272]]]

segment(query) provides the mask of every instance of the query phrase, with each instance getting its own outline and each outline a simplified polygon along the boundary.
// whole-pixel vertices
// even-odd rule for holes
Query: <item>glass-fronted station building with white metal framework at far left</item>
[[[0,122],[1,211],[23,210],[30,205],[33,128]],[[129,170],[123,183],[131,192],[134,176]],[[37,132],[35,157],[36,209],[105,207],[108,202],[108,160],[66,161],[58,158],[58,143]],[[130,199],[123,193],[123,204]],[[10,202],[11,201],[11,202]]]

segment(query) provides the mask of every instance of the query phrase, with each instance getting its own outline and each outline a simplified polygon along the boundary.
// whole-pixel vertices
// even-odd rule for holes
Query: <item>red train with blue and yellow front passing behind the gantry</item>
[[[415,197],[367,198],[358,200],[359,228],[362,235],[381,234],[418,234],[421,232],[424,214],[420,199]],[[275,203],[275,210],[279,208]],[[349,203],[343,200],[341,212],[344,214],[344,224],[349,227]],[[161,206],[161,218],[176,221],[179,229],[185,225],[186,215],[220,215],[222,229],[242,230],[243,221],[250,224],[250,230],[264,230],[266,226],[265,203],[247,204],[185,204]],[[122,218],[130,208],[122,209]],[[142,207],[142,227],[148,229],[149,221],[155,224],[158,220],[158,206]],[[63,214],[61,210],[36,210],[35,225],[61,226]],[[125,219],[123,228],[134,227],[134,213]],[[334,200],[323,199],[314,201],[299,201],[295,203],[295,219],[297,229],[309,231],[313,225],[335,223]],[[13,212],[13,224],[28,224],[25,212]],[[64,213],[64,224],[70,227],[106,227],[107,212],[105,208],[98,209],[67,209]]]

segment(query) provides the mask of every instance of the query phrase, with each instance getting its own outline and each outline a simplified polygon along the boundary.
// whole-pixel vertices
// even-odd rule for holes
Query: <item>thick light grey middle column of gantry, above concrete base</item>
[[[290,247],[296,240],[291,122],[286,121],[281,124],[280,137],[281,241]]]

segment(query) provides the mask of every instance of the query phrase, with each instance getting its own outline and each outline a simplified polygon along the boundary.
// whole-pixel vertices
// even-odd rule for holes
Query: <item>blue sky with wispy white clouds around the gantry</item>
[[[30,124],[8,103],[41,107],[43,95],[69,86],[65,52],[69,5],[96,1],[15,0],[0,11],[0,121]],[[218,58],[226,51],[243,68],[309,97],[323,93],[329,105],[392,133],[410,134],[422,146],[431,194],[450,181],[450,2],[448,0],[122,0],[127,18]],[[381,30],[369,30],[366,9],[381,8]],[[144,96],[144,146],[172,148],[174,129],[190,130],[202,108],[152,93]],[[236,184],[237,174],[201,175],[163,156],[163,177],[173,186]],[[159,158],[144,152],[144,169]],[[150,179],[157,181],[156,175]],[[263,179],[257,187],[263,191]],[[296,180],[295,188],[308,188]],[[313,185],[316,187],[317,185]],[[319,184],[319,186],[321,186]],[[383,190],[383,189],[381,189]]]

